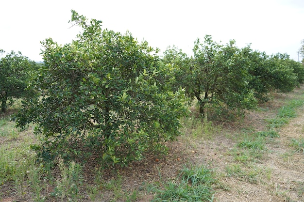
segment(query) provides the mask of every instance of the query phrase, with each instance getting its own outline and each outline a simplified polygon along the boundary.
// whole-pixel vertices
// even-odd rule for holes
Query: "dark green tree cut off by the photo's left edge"
[[[0,50],[3,54],[4,51]],[[30,61],[20,52],[14,51],[0,59],[0,103],[1,111],[6,112],[7,101],[13,104],[13,98],[31,97],[33,91],[26,91],[28,83],[38,69],[38,64]]]

